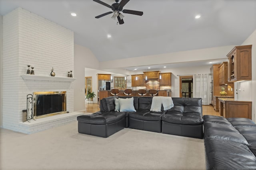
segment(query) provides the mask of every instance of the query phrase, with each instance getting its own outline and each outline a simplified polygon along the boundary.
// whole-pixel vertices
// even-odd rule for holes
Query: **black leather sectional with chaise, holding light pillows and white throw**
[[[203,138],[203,118],[201,98],[172,98],[174,107],[161,112],[150,111],[152,97],[133,97],[133,111],[115,111],[114,98],[108,97],[100,101],[100,111],[91,115],[77,117],[78,132],[100,137],[108,137],[124,127]]]

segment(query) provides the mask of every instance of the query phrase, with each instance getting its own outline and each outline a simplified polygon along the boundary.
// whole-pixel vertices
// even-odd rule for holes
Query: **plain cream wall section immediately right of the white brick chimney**
[[[74,45],[74,111],[85,109],[84,77],[85,68],[99,69],[99,61],[90,49],[81,45]]]

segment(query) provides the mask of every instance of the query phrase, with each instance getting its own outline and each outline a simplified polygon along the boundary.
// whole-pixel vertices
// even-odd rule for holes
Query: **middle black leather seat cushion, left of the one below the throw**
[[[145,111],[145,110],[144,110]],[[144,111],[137,111],[136,113],[129,113],[129,117],[138,120],[146,120],[146,121],[160,121],[161,120],[161,112],[159,113],[150,113]]]

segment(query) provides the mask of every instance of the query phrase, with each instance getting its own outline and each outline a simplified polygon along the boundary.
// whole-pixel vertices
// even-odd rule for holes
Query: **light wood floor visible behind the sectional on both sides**
[[[94,113],[96,111],[100,111],[99,105],[94,103],[85,104],[84,113]],[[218,111],[215,111],[212,105],[203,105],[203,115],[217,115],[220,116]]]

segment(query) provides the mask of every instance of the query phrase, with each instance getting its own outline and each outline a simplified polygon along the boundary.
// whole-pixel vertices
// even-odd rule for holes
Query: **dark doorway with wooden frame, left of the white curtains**
[[[193,76],[180,76],[180,98],[193,97]]]

